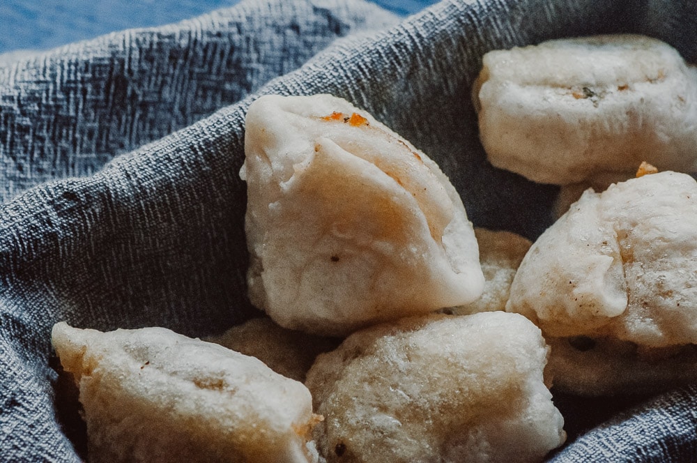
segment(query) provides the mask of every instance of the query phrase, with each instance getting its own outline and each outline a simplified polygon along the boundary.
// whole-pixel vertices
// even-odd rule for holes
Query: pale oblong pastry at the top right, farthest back
[[[491,163],[540,183],[697,172],[697,68],[635,35],[550,40],[484,55],[473,87]]]

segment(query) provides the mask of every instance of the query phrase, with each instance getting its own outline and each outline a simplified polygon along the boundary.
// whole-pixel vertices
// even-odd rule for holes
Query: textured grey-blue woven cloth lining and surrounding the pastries
[[[401,22],[360,0],[245,0],[0,64],[0,461],[79,461],[56,321],[201,336],[254,314],[238,176],[253,98],[351,100],[441,165],[475,225],[535,238],[557,190],[485,160],[482,54],[611,32],[697,61],[693,0],[446,0]],[[555,400],[570,439],[553,462],[697,461],[697,388]]]

